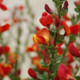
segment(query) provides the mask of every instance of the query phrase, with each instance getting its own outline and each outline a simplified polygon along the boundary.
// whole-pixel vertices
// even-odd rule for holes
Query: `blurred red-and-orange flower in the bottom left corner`
[[[0,75],[2,77],[5,77],[6,75],[8,75],[11,71],[12,67],[10,64],[7,63],[0,63]]]

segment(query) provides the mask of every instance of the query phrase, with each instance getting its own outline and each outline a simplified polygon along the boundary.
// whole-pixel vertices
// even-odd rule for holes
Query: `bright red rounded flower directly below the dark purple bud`
[[[44,12],[39,21],[43,26],[50,26],[53,23],[52,15]]]

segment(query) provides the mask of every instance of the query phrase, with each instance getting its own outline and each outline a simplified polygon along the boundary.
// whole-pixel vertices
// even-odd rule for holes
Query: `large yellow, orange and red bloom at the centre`
[[[43,28],[37,34],[33,35],[33,41],[37,44],[48,44],[50,40],[50,32]]]

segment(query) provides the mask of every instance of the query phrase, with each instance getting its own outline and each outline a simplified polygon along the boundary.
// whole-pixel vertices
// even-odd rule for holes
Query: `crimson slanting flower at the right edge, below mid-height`
[[[78,49],[77,47],[75,47],[73,43],[70,43],[68,48],[69,48],[70,53],[73,56],[80,57],[80,49]]]

